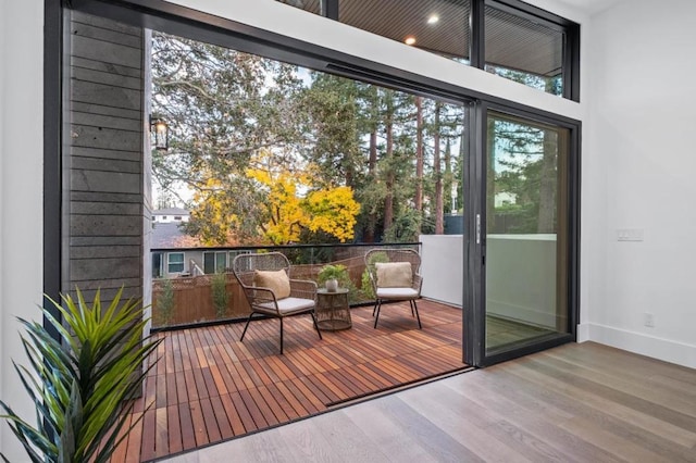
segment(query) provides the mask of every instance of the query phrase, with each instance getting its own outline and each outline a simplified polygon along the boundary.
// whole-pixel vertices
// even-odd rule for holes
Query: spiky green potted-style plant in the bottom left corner
[[[33,462],[105,462],[137,424],[124,429],[132,399],[154,362],[141,365],[159,341],[142,339],[142,305],[122,302],[122,292],[105,309],[99,290],[91,305],[79,289],[77,301],[70,295],[61,295],[63,304],[49,298],[63,323],[47,308],[42,313],[60,340],[41,323],[18,318],[27,330],[22,342],[29,367],[14,367],[36,406],[36,427],[3,401],[0,406]]]

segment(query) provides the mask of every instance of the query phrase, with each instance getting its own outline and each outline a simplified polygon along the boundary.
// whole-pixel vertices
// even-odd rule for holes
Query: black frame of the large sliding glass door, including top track
[[[63,80],[63,8],[65,0],[45,0],[44,57],[44,291],[54,300],[61,289],[62,237],[62,80]],[[581,123],[514,101],[489,96],[381,63],[356,58],[315,43],[224,20],[162,0],[72,0],[70,8],[140,27],[158,29],[239,51],[290,62],[318,71],[378,84],[456,104],[469,111],[469,155],[464,163],[462,185],[464,214],[463,290],[463,361],[486,366],[513,356],[543,350],[575,339],[579,311],[580,249],[580,133]],[[470,103],[475,101],[475,103]],[[570,248],[569,249],[569,320],[571,335],[497,356],[485,356],[485,311],[483,260],[485,259],[485,121],[488,109],[511,112],[524,117],[568,127],[571,130],[570,172]],[[473,136],[471,136],[473,135]],[[475,188],[478,186],[478,188]],[[464,190],[464,188],[467,188]],[[476,230],[481,241],[476,242]],[[49,306],[50,304],[46,304]]]

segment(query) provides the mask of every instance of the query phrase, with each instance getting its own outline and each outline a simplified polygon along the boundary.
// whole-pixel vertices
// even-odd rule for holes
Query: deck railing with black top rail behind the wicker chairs
[[[321,271],[325,265],[343,265],[339,285],[348,288],[349,303],[360,305],[374,302],[364,262],[369,250],[411,248],[420,252],[420,247],[419,242],[400,242],[153,249],[152,327],[190,326],[248,317],[249,304],[232,272],[234,258],[241,253],[282,252],[290,261],[291,278],[310,279],[318,285],[324,283]],[[170,265],[172,263],[176,265]]]

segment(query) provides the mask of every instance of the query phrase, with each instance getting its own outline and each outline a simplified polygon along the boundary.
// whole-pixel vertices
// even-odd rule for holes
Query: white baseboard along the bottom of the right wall
[[[595,341],[641,355],[696,368],[696,346],[610,326],[577,325],[577,342]]]

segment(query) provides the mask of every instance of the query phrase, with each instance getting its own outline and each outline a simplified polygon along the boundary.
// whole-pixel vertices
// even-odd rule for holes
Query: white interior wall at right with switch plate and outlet
[[[581,333],[696,367],[696,2],[620,3],[589,33]]]

